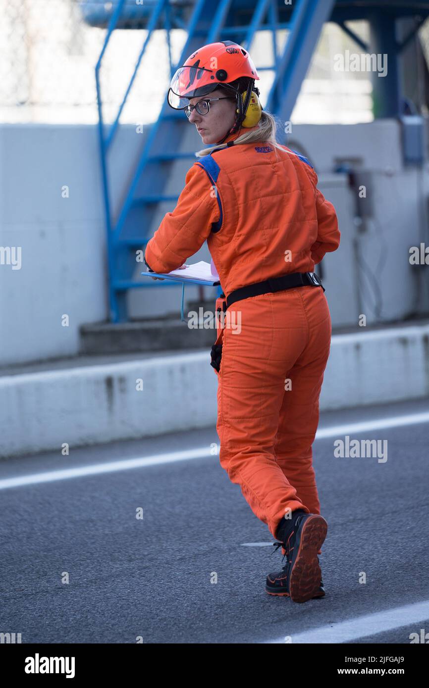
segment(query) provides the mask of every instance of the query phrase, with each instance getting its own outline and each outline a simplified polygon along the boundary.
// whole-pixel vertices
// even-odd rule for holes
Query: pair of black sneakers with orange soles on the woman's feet
[[[328,524],[318,514],[300,513],[295,517],[285,540],[273,543],[284,547],[286,563],[281,571],[266,577],[265,590],[284,595],[294,602],[306,602],[325,594],[317,552],[328,531]]]

